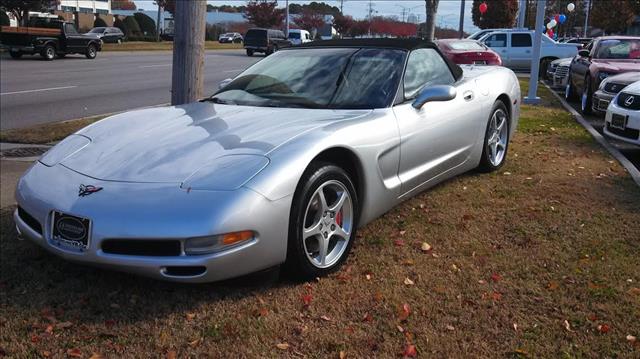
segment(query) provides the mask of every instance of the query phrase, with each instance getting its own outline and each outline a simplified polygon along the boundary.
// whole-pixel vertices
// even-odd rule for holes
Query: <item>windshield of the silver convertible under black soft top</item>
[[[325,48],[279,51],[236,77],[216,103],[331,109],[391,105],[406,51]]]

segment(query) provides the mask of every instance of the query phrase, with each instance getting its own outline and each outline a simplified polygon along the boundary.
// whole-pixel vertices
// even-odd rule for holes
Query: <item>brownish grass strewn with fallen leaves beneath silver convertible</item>
[[[6,209],[0,352],[638,358],[640,189],[541,92],[498,173],[391,210],[312,283],[272,272],[187,286],[82,267],[17,241]]]

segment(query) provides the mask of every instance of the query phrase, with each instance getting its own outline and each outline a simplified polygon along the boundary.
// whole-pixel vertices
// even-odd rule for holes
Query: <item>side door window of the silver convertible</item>
[[[418,49],[409,55],[404,74],[405,99],[415,98],[423,87],[454,82],[449,66],[434,49]]]

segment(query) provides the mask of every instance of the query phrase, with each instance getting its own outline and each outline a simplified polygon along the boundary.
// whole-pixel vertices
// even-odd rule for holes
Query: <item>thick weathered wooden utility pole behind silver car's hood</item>
[[[206,13],[206,1],[176,1],[171,105],[203,96]]]

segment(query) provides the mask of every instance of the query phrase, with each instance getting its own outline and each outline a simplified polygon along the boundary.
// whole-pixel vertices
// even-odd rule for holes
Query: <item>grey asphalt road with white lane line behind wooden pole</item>
[[[262,58],[207,51],[205,95]],[[0,127],[28,127],[154,106],[171,100],[171,52],[101,52],[43,61],[0,56]]]

